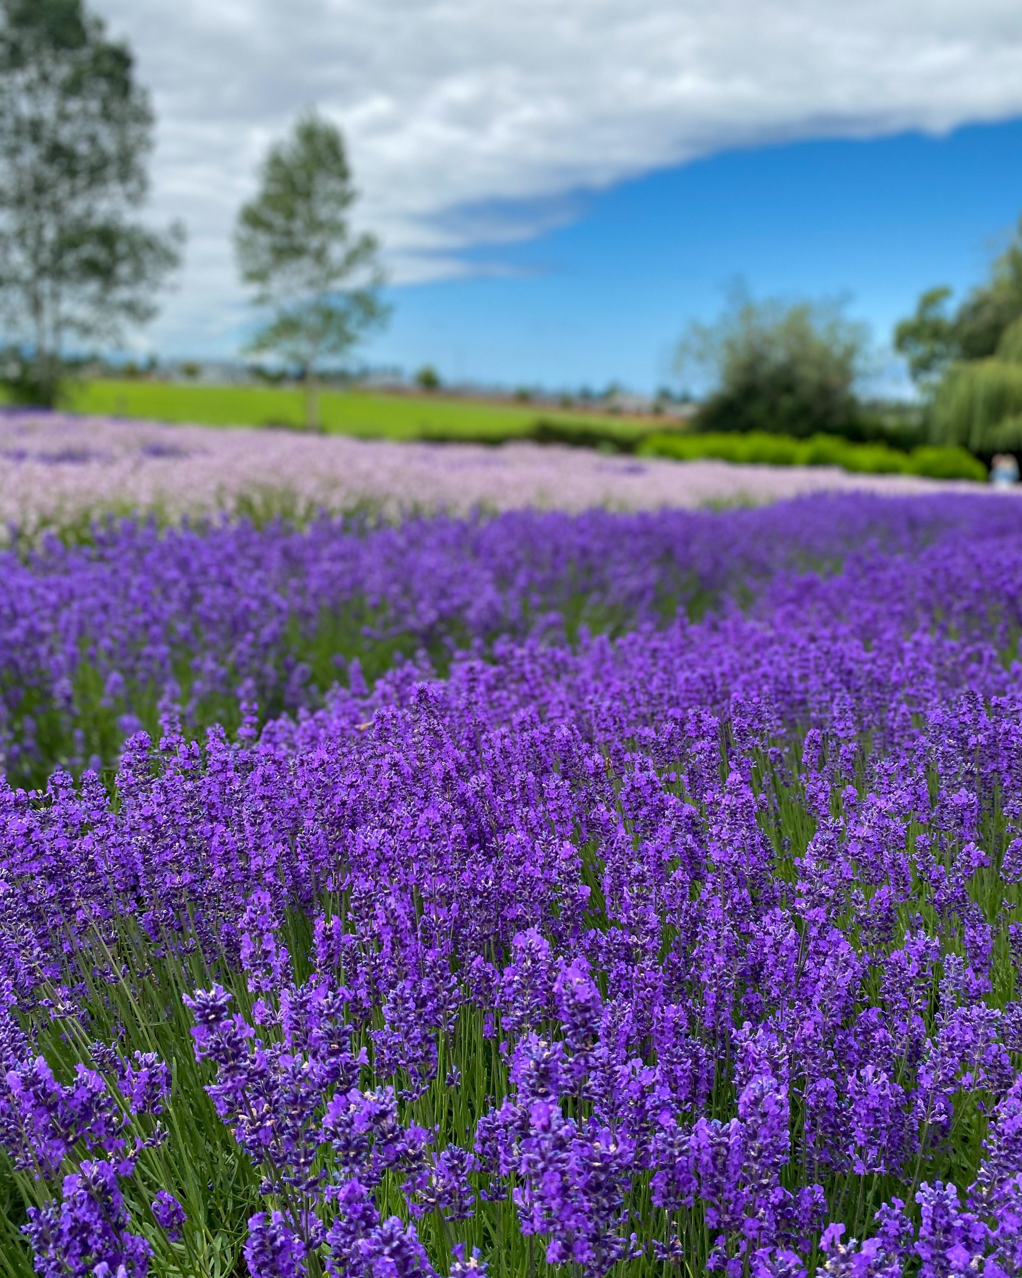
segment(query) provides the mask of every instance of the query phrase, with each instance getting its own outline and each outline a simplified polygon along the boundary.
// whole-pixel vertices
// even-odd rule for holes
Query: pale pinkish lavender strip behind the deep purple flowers
[[[60,414],[0,414],[0,524],[28,529],[83,511],[157,510],[178,519],[233,509],[241,496],[289,496],[346,510],[370,502],[468,514],[525,506],[650,510],[763,502],[820,491],[887,496],[973,484],[834,468],[604,458],[508,443],[393,443],[271,429],[210,429]]]

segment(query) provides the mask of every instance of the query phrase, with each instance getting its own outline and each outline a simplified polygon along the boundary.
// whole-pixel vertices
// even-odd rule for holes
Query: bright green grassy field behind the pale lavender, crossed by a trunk
[[[295,426],[304,422],[300,390],[249,386],[188,386],[147,381],[95,381],[73,390],[68,406],[75,413],[194,422],[201,426]],[[580,426],[600,424],[622,436],[648,424],[599,414],[568,413],[530,404],[485,404],[442,395],[385,395],[365,391],[323,391],[319,400],[330,435],[414,440],[429,435],[464,435],[494,440],[525,433],[540,418]]]

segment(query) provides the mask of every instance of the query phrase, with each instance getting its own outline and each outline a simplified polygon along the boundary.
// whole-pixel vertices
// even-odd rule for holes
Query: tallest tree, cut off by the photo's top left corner
[[[156,313],[183,231],[130,220],[153,116],[132,54],[82,0],[0,0],[0,320],[52,405],[68,337],[119,339]]]

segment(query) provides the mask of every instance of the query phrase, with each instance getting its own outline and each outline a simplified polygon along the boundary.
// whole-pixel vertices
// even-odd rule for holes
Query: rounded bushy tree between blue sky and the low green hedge
[[[869,331],[835,303],[754,302],[738,289],[714,323],[689,326],[676,368],[710,383],[703,429],[860,438],[867,346]]]

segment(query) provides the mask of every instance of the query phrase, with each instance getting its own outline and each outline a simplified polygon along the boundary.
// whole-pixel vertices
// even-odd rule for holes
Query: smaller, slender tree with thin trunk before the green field
[[[248,345],[296,367],[305,382],[305,422],[318,426],[317,380],[387,308],[373,235],[353,235],[347,210],[356,198],[340,130],[314,112],[271,147],[259,192],[235,231],[241,279],[256,290],[267,322]]]

